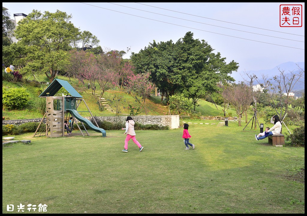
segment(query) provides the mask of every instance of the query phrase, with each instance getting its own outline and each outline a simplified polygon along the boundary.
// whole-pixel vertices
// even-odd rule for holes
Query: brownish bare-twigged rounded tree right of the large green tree
[[[235,107],[239,116],[239,126],[241,126],[241,117],[253,102],[252,89],[244,83],[225,86],[223,97],[228,103]]]

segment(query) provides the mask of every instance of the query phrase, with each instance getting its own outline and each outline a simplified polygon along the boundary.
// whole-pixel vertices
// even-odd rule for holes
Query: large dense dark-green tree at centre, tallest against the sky
[[[132,53],[131,61],[136,73],[151,73],[162,93],[171,96],[183,92],[195,109],[200,98],[219,90],[218,82],[234,81],[228,74],[239,67],[234,61],[226,64],[226,58],[213,50],[206,41],[193,39],[193,33],[187,32],[176,43],[153,41],[139,53]]]

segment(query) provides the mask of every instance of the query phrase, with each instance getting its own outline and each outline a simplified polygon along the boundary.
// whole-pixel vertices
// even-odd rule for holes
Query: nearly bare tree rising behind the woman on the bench
[[[297,65],[297,70],[289,71],[286,73],[284,70],[278,68],[279,74],[274,76],[273,79],[268,79],[268,75],[262,75],[263,82],[258,83],[264,89],[263,92],[272,101],[272,106],[279,116],[280,120],[283,120],[287,115],[289,105],[291,101],[295,100],[291,97],[290,93],[293,92],[295,84],[304,81],[305,70]],[[278,101],[274,99],[277,97]]]

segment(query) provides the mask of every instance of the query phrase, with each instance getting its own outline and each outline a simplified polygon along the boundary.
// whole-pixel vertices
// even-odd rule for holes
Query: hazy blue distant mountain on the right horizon
[[[297,72],[299,70],[297,65],[301,69],[303,69],[305,71],[305,62],[292,62],[292,61],[289,61],[289,62],[282,63],[280,65],[277,65],[276,67],[274,67],[272,69],[258,70],[258,71],[246,71],[246,72],[248,74],[250,74],[250,75],[255,74],[258,77],[258,79],[260,80],[260,82],[263,82],[262,74],[268,75],[268,79],[273,78],[274,76],[280,74],[278,68],[281,71],[285,71],[285,73],[290,73],[290,72],[294,72],[295,73],[295,72]],[[238,83],[239,81],[243,81],[243,78],[247,78],[247,76],[245,75],[244,71],[236,73],[236,75],[231,74],[230,76],[235,78],[236,83]],[[274,82],[274,81],[272,81],[272,82]],[[300,79],[300,82],[298,82],[298,83],[296,83],[294,85],[294,88],[293,88],[293,93],[295,93],[295,96],[300,97],[302,92],[305,92],[305,75],[304,75],[304,77],[302,79]]]

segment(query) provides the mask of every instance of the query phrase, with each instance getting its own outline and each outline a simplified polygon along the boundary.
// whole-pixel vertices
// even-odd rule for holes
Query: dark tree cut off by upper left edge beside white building
[[[14,22],[10,20],[10,13],[2,8],[2,46],[9,46],[12,44],[11,33],[15,28]]]

